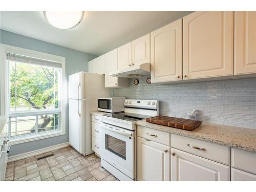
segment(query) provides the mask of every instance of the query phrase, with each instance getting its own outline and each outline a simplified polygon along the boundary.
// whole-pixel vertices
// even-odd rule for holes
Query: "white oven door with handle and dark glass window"
[[[102,158],[128,177],[135,176],[135,132],[102,123]]]

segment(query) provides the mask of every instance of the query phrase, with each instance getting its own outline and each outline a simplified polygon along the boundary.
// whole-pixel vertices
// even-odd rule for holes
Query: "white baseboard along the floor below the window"
[[[47,153],[47,152],[51,152],[51,151],[54,151],[54,150],[58,150],[59,148],[63,148],[63,147],[66,147],[66,146],[69,146],[69,142],[60,143],[60,144],[49,146],[49,147],[46,147],[46,148],[40,148],[39,150],[35,150],[35,151],[32,151],[32,152],[27,152],[27,153],[23,153],[23,154],[14,155],[14,156],[11,156],[11,157],[8,158],[8,163],[13,162],[13,161],[17,161],[17,160],[20,160],[20,159],[25,159],[25,158],[28,158],[28,157],[32,157],[32,156],[35,156],[35,155],[39,155],[39,154],[42,154],[42,153]]]

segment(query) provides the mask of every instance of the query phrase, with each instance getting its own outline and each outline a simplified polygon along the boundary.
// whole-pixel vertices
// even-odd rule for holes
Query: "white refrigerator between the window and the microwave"
[[[79,72],[69,76],[69,144],[82,155],[92,151],[90,112],[98,110],[98,97],[111,97],[104,75]]]

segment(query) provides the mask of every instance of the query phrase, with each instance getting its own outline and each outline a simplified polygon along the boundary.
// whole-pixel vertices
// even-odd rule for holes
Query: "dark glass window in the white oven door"
[[[120,139],[105,134],[105,149],[126,160],[126,143]]]

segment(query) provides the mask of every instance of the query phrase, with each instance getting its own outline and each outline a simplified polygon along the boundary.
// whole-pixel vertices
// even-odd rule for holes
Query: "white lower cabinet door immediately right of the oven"
[[[137,158],[138,181],[170,181],[169,146],[137,137]]]

